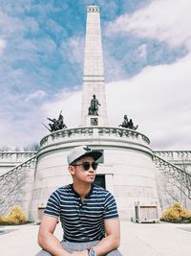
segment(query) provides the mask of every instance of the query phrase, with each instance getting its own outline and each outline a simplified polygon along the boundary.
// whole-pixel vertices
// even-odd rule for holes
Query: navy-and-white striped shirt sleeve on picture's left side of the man
[[[54,191],[51,197],[48,199],[44,214],[50,215],[56,218],[60,216],[60,197],[58,191]]]

